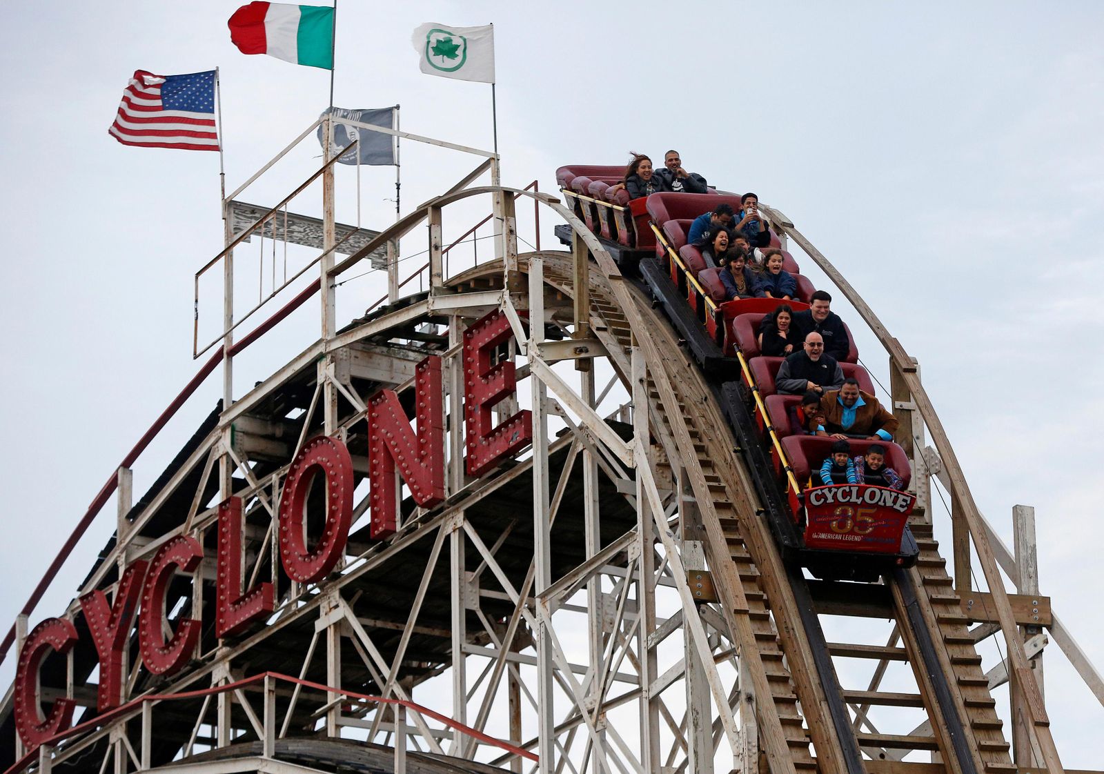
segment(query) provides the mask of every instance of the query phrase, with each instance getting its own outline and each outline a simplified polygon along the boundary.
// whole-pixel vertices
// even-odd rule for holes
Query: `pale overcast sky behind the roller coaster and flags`
[[[236,51],[225,20],[237,6],[6,9],[4,630],[104,479],[198,368],[192,277],[222,244],[219,160],[109,138],[127,79],[138,68],[221,67],[231,189],[327,104],[326,72]],[[495,23],[507,184],[552,190],[561,165],[675,147],[712,184],[781,208],[920,359],[974,496],[1009,542],[1012,505],[1036,507],[1042,593],[1104,666],[1104,6],[346,1],[338,13],[336,104],[401,104],[404,129],[479,147],[490,145],[489,88],[421,74],[410,34],[426,21]],[[317,153],[305,144],[243,198],[275,204]],[[404,144],[403,161],[405,212],[477,159]],[[339,172],[351,191],[352,170]],[[393,219],[392,174],[362,170],[364,224]],[[355,218],[348,197],[338,214]],[[379,277],[359,282],[343,289],[344,319],[380,295]],[[243,362],[238,395],[309,343],[308,306]],[[872,337],[836,308],[884,381]],[[137,492],[211,410],[216,382],[136,466]],[[64,609],[113,530],[114,505],[32,625]],[[1047,654],[1063,763],[1098,767],[1104,711],[1053,645]]]

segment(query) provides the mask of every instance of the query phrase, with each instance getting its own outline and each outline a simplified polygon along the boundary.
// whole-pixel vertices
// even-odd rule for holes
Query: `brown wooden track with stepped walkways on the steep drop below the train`
[[[572,268],[566,262],[558,265],[546,254],[543,267],[546,282],[570,291]],[[592,328],[609,350],[616,347],[628,352],[636,343],[646,352],[654,433],[668,438],[668,443],[673,442],[676,448],[673,454],[668,450],[668,457],[678,459],[690,474],[707,523],[707,554],[730,626],[752,627],[757,646],[754,653],[768,678],[774,714],[782,724],[790,754],[788,765],[782,771],[789,766],[794,771],[817,767],[825,772],[848,771],[849,748],[861,748],[868,755],[883,760],[885,750],[938,752],[946,762],[945,771],[962,774],[1016,771],[1009,756],[1010,745],[996,715],[996,701],[980,669],[975,639],[967,630],[968,621],[951,589],[949,577],[943,572],[945,561],[938,554],[938,543],[931,538],[931,527],[922,518],[913,520],[922,550],[920,562],[907,572],[910,585],[920,590],[914,604],[927,628],[926,639],[934,644],[928,659],[935,664],[925,666],[901,590],[887,579],[894,601],[890,614],[895,617],[905,644],[895,655],[910,662],[921,692],[850,691],[845,696],[866,700],[868,707],[896,703],[924,708],[931,719],[928,730],[922,734],[856,730],[850,740],[836,733],[827,717],[822,676],[817,674],[815,665],[810,639],[816,637],[810,637],[802,622],[786,569],[764,519],[757,516],[761,505],[747,471],[742,469],[743,463],[734,454],[732,437],[714,432],[724,427],[725,421],[713,393],[697,367],[680,351],[670,327],[651,310],[648,299],[624,284],[617,294],[613,287],[595,280],[594,274],[591,273],[588,288]],[[629,295],[633,307],[624,308],[618,295]],[[660,369],[654,367],[657,361]],[[722,540],[718,540],[718,527]],[[730,600],[742,603],[733,605]],[[836,648],[846,651],[848,646],[836,644]],[[941,696],[932,682],[933,667],[936,676],[949,683],[949,690],[942,695],[942,701],[949,700],[949,707],[940,703]],[[762,703],[758,712],[761,723],[773,721],[765,717],[769,711]],[[816,752],[815,759],[809,743]],[[773,765],[772,771],[775,771]]]

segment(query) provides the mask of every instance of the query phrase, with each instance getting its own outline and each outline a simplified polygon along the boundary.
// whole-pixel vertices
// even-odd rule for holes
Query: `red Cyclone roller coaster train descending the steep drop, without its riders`
[[[762,357],[756,341],[763,316],[778,305],[789,304],[795,311],[808,308],[815,288],[799,273],[794,257],[783,251],[783,267],[795,277],[797,299],[726,301],[719,269],[687,244],[687,235],[694,218],[721,202],[739,211],[739,197],[655,193],[629,201],[625,191],[609,194],[611,169],[616,168],[561,167],[556,179],[569,203],[588,202],[595,208],[588,218],[581,209],[576,212],[613,247],[609,252],[623,271],[628,253],[618,253],[617,247],[635,248],[630,273],[635,274],[638,261],[644,284],[711,382],[740,447],[747,453],[752,479],[783,555],[818,577],[832,580],[877,581],[894,568],[914,564],[919,550],[907,528],[914,496],[868,485],[809,486],[813,470],[828,455],[832,439],[790,434],[786,410],[800,397],[774,394],[782,358]],[[602,220],[598,202],[603,198],[613,205],[609,212],[616,245],[611,240],[614,232]],[[570,230],[560,238],[570,245]],[[781,248],[774,232],[771,244]],[[645,251],[652,246],[655,257],[646,256]],[[848,336],[851,347],[840,368],[845,375],[859,380],[860,389],[874,394],[870,375],[857,364],[859,352],[850,330]],[[862,454],[873,443],[852,441],[852,455]],[[892,443],[882,445],[885,464],[907,484],[912,470],[904,449]]]

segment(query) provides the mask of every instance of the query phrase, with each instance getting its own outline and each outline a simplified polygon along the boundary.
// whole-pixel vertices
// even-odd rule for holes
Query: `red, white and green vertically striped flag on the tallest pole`
[[[333,70],[333,9],[251,2],[227,22],[243,54],[268,54],[293,64]]]

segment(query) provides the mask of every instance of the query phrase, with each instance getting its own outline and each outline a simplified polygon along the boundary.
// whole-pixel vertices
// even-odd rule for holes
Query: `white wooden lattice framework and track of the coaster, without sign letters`
[[[461,150],[490,157],[497,174],[492,155]],[[1010,552],[977,511],[915,363],[788,219],[765,208],[890,352],[893,406],[911,428],[906,449],[926,508],[913,523],[924,551],[909,571],[916,601],[890,583],[854,598],[810,585],[806,609],[809,592],[792,585],[757,517],[762,503],[710,404],[708,384],[650,299],[554,198],[471,188],[486,168],[390,229],[362,235],[360,246],[337,261],[333,167],[327,163],[316,264],[319,339],[244,394],[235,394],[232,378],[241,324],[232,303],[233,244],[241,238],[234,234],[248,229],[232,232],[227,222],[219,339],[224,407],[139,506],[130,470],[119,470],[118,540],[77,596],[110,593],[126,563],[176,536],[192,536],[206,556],[191,591],[170,593],[180,609],[199,617],[210,608],[216,503],[237,496],[246,577],[250,585],[258,579],[274,584],[276,608],[265,626],[237,638],[205,630],[195,660],[168,681],[129,664],[130,703],[106,722],[40,746],[21,767],[335,771],[319,753],[327,742],[336,762],[343,750],[337,740],[367,740],[391,749],[395,772],[406,771],[412,756],[429,765],[432,755],[541,774],[853,772],[854,753],[861,754],[858,770],[869,772],[1061,772],[1043,704],[1048,642],[1060,645],[1102,701],[1104,688],[1039,594],[1033,511],[1017,508]],[[496,259],[446,272],[449,205],[477,197],[493,208]],[[569,224],[570,250],[519,252],[519,198]],[[339,277],[388,254],[389,295],[399,301],[395,245],[423,226],[428,291],[339,328]],[[517,395],[496,411],[505,418],[529,409],[532,446],[475,479],[461,463],[461,335],[493,310],[510,320],[514,341],[502,357],[519,367]],[[362,441],[371,392],[411,390],[415,364],[431,353],[443,358],[445,373],[445,502],[412,508],[384,541],[363,539],[354,524],[329,579],[289,582],[279,570],[277,503],[290,462],[319,430],[350,445]],[[363,473],[363,463],[355,464]],[[933,539],[933,487],[953,502],[954,573],[946,583]],[[369,498],[358,489],[354,518],[364,517]],[[972,586],[972,552],[985,591]],[[809,624],[810,613],[814,622],[817,615],[891,622],[880,635],[884,642],[827,644],[829,664],[871,665],[866,685],[837,696],[832,681],[853,674],[839,661],[832,681],[824,679],[816,645],[824,635]],[[76,602],[66,615],[79,615]],[[981,657],[970,654],[995,634],[1004,637],[1006,660],[983,670]],[[23,621],[17,647],[25,635]],[[917,666],[926,640],[957,678],[949,698],[940,698],[937,681]],[[95,690],[74,678],[79,668],[71,655],[64,685],[43,685],[42,700],[64,695],[94,708]],[[911,689],[898,687],[910,680]],[[1012,719],[1002,730],[988,697],[1005,683]],[[846,733],[834,702],[846,707]],[[915,711],[902,719],[902,708]],[[0,709],[10,717],[11,691]],[[960,733],[967,752],[955,757]],[[220,754],[229,750],[237,753]],[[14,751],[15,757],[23,752]]]

